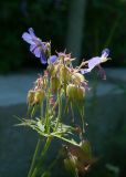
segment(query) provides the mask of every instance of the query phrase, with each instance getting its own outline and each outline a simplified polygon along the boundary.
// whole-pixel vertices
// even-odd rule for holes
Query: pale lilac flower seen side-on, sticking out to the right
[[[95,56],[95,58],[92,58],[91,60],[84,62],[85,64],[87,64],[87,69],[82,69],[81,70],[81,73],[82,74],[85,74],[85,73],[88,73],[91,72],[95,66],[99,65],[101,63],[104,63],[106,62],[108,59],[109,54],[109,50],[108,49],[104,49],[102,51],[102,55],[101,56]]]

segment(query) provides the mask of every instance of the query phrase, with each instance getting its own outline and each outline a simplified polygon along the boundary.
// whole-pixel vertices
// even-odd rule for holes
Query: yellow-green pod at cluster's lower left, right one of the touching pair
[[[41,103],[43,101],[44,96],[45,96],[45,93],[43,90],[35,91],[34,103],[35,104]]]

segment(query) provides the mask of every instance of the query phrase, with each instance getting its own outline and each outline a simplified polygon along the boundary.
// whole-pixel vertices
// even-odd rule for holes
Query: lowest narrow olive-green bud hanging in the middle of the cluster
[[[60,79],[56,76],[51,77],[51,91],[55,93],[60,87]]]

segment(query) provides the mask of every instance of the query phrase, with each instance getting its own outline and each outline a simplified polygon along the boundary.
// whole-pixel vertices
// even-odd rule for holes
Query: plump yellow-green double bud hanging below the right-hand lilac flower
[[[66,95],[71,100],[82,101],[85,96],[85,88],[82,86],[76,86],[74,84],[69,84],[66,87]]]

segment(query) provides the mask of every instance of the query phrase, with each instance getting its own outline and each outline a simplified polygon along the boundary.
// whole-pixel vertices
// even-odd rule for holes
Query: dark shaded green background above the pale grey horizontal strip
[[[0,72],[40,66],[21,39],[30,27],[43,41],[52,41],[53,52],[73,44],[70,52],[78,46],[73,53],[88,59],[107,46],[113,58],[107,65],[126,66],[125,9],[125,0],[0,1]]]

